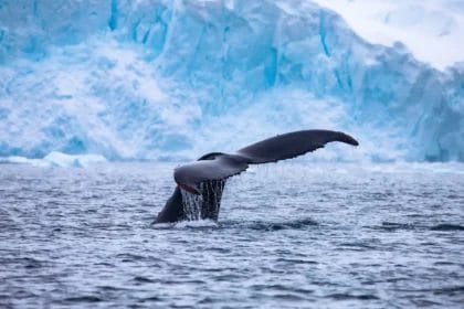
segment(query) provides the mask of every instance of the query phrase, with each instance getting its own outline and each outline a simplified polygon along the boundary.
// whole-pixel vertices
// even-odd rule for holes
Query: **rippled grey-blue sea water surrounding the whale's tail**
[[[176,163],[0,166],[1,308],[462,308],[464,166],[282,162],[152,225]]]

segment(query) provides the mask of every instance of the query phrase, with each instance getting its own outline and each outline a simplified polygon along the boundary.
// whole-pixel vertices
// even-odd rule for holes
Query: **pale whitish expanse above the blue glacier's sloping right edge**
[[[314,0],[339,13],[365,40],[402,42],[443,71],[464,62],[464,0]]]

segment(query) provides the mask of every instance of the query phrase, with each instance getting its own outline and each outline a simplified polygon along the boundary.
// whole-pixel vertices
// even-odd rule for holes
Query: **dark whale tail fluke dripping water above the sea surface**
[[[251,164],[277,162],[324,148],[328,142],[358,146],[351,136],[333,130],[300,130],[246,146],[235,153],[210,152],[175,169],[176,189],[154,223],[218,221],[226,180]]]

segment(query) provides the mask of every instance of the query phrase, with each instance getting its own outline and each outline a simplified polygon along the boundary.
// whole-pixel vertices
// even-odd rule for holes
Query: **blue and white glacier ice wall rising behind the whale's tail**
[[[310,160],[464,161],[464,64],[308,0],[0,0],[0,76],[3,158],[183,160],[327,128],[361,147]]]

